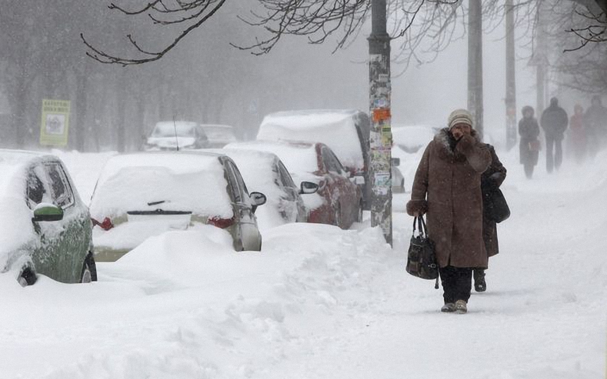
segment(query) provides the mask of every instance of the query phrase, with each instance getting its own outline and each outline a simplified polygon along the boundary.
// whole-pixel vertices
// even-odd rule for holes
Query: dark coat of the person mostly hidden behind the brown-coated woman
[[[493,191],[500,188],[501,184],[506,179],[506,167],[500,162],[495,153],[495,149],[490,144],[486,144],[487,149],[491,153],[491,164],[489,168],[481,175],[481,191],[483,198],[489,196]],[[483,212],[483,241],[487,250],[487,257],[493,257],[500,252],[500,247],[497,241],[497,224],[490,220]]]

